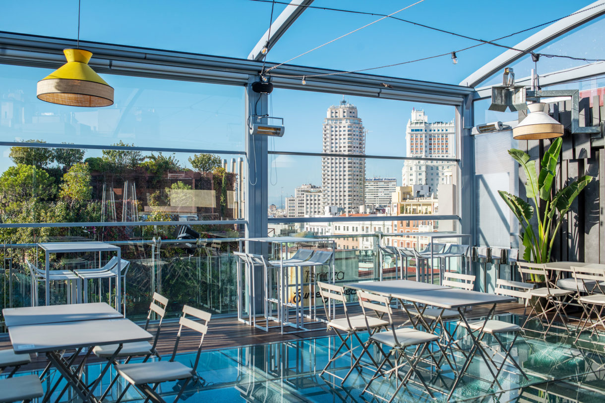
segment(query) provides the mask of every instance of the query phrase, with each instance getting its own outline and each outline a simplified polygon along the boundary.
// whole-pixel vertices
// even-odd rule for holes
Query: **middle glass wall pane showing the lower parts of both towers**
[[[456,161],[271,154],[269,166],[270,217],[458,211]]]

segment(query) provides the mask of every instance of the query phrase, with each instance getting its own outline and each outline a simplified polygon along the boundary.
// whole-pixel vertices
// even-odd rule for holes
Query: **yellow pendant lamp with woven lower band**
[[[88,65],[93,54],[83,49],[65,49],[67,63],[38,82],[38,98],[70,106],[113,105],[114,89]]]

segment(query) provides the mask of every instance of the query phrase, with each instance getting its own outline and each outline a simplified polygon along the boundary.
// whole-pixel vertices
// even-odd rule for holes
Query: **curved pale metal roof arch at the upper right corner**
[[[543,30],[540,30],[527,39],[522,40],[522,42],[519,42],[514,46],[514,48],[525,52],[534,51],[536,48],[548,44],[548,42],[551,42],[551,40],[557,38],[558,36],[561,36],[574,28],[580,27],[580,25],[586,24],[586,22],[592,21],[601,15],[605,15],[605,3],[596,1],[587,5],[586,7],[580,8],[580,10],[576,11],[574,15],[554,22]],[[516,50],[507,50],[500,54],[500,56],[495,57],[481,68],[477,69],[477,71],[470,76],[466,77],[466,79],[460,82],[460,85],[474,87],[491,77],[492,74],[497,73],[500,69],[505,68],[510,63],[520,59],[526,54],[527,53]]]

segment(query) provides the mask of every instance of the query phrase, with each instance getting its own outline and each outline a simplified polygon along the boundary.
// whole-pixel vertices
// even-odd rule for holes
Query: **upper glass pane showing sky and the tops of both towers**
[[[284,118],[286,127],[270,141],[273,150],[456,156],[452,106],[276,89],[269,115]]]

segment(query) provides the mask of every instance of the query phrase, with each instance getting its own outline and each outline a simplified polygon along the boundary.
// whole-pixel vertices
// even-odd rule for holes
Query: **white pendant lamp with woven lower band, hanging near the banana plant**
[[[548,105],[531,103],[528,105],[528,109],[531,113],[512,129],[512,138],[515,140],[542,140],[563,135],[563,124],[548,115]]]

